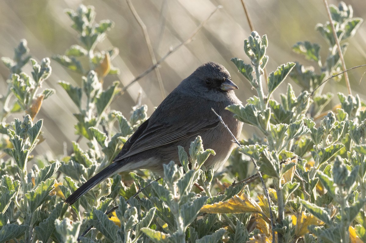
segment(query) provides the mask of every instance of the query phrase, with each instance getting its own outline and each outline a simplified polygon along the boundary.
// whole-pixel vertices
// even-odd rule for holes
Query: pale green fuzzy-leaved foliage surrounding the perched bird
[[[339,7],[331,6],[330,11],[341,41],[352,37],[362,20],[352,17],[351,6],[340,3]],[[74,114],[75,133],[87,141],[86,146],[73,142],[72,153],[59,156],[59,160],[33,158],[31,153],[43,140],[41,129],[46,125],[34,117],[42,100],[54,91],[37,92],[51,74],[50,62],[44,58],[38,64],[31,59],[27,43],[22,40],[14,60],[2,58],[10,75],[8,89],[0,99],[7,104],[0,113],[1,121],[15,112],[22,112],[23,118],[0,123],[0,242],[241,243],[252,238],[269,240],[272,229],[277,232],[278,242],[296,242],[300,238],[306,243],[348,242],[350,236],[366,242],[365,102],[357,94],[338,93],[340,108],[319,116],[329,108],[333,94],[321,94],[321,89],[311,93],[340,70],[329,23],[317,27],[329,43],[324,62],[318,44],[299,42],[294,46],[296,53],[318,65],[318,74],[313,67],[288,62],[269,74],[267,87],[263,88],[261,77],[269,60],[266,48],[270,40],[256,32],[244,41],[250,64],[232,58],[257,95],[244,106],[227,109],[235,118],[258,128],[262,137],[240,141],[242,145],[232,152],[225,173],[214,174],[212,168],[203,166],[215,152],[204,149],[197,137],[188,153],[183,147],[176,148],[179,161],[164,164],[164,179],[154,181],[155,176],[148,171],[116,174],[75,204],[64,205],[72,191],[112,162],[128,137],[148,118],[145,105],[132,107],[131,114],[110,109],[119,92],[118,83],[103,87],[101,80],[117,72],[110,64],[117,50],[96,52],[94,48],[113,22],[95,24],[96,13],[91,6],[81,5],[66,13],[81,45],[71,46],[65,55],[54,59],[83,75],[81,87],[66,81],[59,84],[78,109]],[[345,52],[347,44],[341,45]],[[78,60],[85,56],[89,67],[82,67]],[[27,63],[31,74],[22,72]],[[303,91],[294,90],[288,83],[278,100],[271,98],[278,97],[275,91],[288,81],[289,74]],[[29,168],[31,159],[34,165]],[[242,180],[254,174],[251,159],[257,162],[266,186],[273,187],[269,194],[273,228],[268,201],[261,195],[261,182],[232,184],[235,176]],[[225,212],[235,213],[201,212],[204,205],[214,210],[240,199],[238,195],[257,194],[258,204],[250,199],[261,214],[237,213],[230,206]],[[249,205],[250,201],[245,203]],[[253,225],[251,218],[258,224],[248,232]],[[356,235],[350,235],[350,226]],[[261,235],[265,231],[267,235]]]

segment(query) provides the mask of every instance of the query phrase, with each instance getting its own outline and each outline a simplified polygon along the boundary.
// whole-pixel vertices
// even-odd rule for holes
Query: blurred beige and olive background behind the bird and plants
[[[351,4],[354,17],[366,19],[366,1],[345,0]],[[327,43],[315,31],[317,23],[328,20],[323,1],[320,0],[245,0],[254,29],[259,35],[266,34],[269,45],[267,72],[290,61],[313,65],[292,51],[298,41],[319,43],[323,59],[326,58]],[[338,5],[339,1],[329,0],[329,4]],[[0,1],[0,56],[13,57],[14,48],[20,39],[26,39],[30,54],[37,61],[55,54],[64,54],[71,45],[80,44],[78,35],[71,28],[71,20],[64,13],[65,9],[76,10],[80,4],[93,5],[97,16],[96,22],[110,19],[115,27],[107,32],[107,38],[98,44],[96,50],[109,50],[113,46],[119,49],[119,55],[112,60],[112,65],[120,69],[119,75],[108,75],[104,78],[104,88],[115,80],[119,87],[126,86],[138,75],[149,69],[153,62],[146,45],[140,25],[131,13],[125,0],[32,0]],[[243,51],[244,39],[251,33],[246,15],[240,0],[132,0],[135,10],[146,25],[153,52],[159,60],[171,48],[188,39],[218,5],[217,10],[198,31],[194,38],[180,46],[159,66],[165,94],[169,94],[182,79],[190,75],[199,65],[207,61],[219,62],[231,73],[232,80],[238,85],[236,95],[243,104],[255,92],[250,89],[247,80],[240,75],[232,57],[242,58],[249,63]],[[347,68],[366,64],[366,24],[363,23],[356,35],[350,39],[345,55]],[[66,92],[57,85],[60,80],[74,86],[81,86],[81,75],[74,73],[51,60],[52,74],[42,88],[53,88],[56,94],[43,103],[36,120],[44,119],[42,131],[46,141],[37,145],[36,153],[48,154],[51,158],[62,155],[71,149],[71,141],[78,136],[74,134],[76,118],[72,113],[77,109]],[[359,94],[366,99],[365,67],[348,72],[353,95]],[[30,65],[23,69],[30,74]],[[0,94],[5,92],[9,71],[0,64]],[[299,86],[288,77],[276,90],[273,98],[278,99],[280,92],[285,92],[287,83],[294,87],[296,95],[301,91]],[[329,81],[323,92],[344,92],[347,88],[344,78],[340,83]],[[138,103],[146,104],[150,115],[155,106],[164,99],[155,72],[150,72],[130,86],[127,91],[116,98],[112,109],[119,110],[126,118],[130,117],[131,107]],[[339,102],[335,96],[332,106]],[[2,107],[0,107],[2,109]],[[23,114],[19,114],[22,119]],[[9,117],[10,122],[13,117]],[[242,137],[248,138],[256,131],[250,127],[243,129]],[[55,157],[54,157],[55,158]]]

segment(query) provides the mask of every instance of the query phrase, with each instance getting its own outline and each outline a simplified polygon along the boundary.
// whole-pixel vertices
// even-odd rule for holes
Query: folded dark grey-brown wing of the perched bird
[[[192,107],[200,105],[197,101],[190,100],[182,104],[182,102],[175,102],[175,100],[177,99],[170,101],[168,99],[169,104],[162,108],[163,104],[161,104],[154,114],[139,126],[124,144],[114,162],[148,149],[175,143],[191,136],[198,136],[203,131],[212,129],[219,124],[220,121],[211,111],[211,107],[197,113],[192,109]],[[165,102],[165,104],[167,103]],[[174,107],[173,110],[172,107]]]

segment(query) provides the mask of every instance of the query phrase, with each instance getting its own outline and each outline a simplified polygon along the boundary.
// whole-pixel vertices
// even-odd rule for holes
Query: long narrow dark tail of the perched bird
[[[94,175],[92,178],[90,178],[87,182],[85,182],[81,187],[76,189],[74,193],[72,193],[65,202],[68,204],[73,204],[76,200],[78,200],[82,195],[87,193],[90,189],[92,189],[94,186],[96,186],[99,182],[103,181],[104,179],[107,179],[109,176],[115,174],[115,172],[118,170],[118,167],[122,163],[112,163],[109,166],[105,167],[101,172]]]

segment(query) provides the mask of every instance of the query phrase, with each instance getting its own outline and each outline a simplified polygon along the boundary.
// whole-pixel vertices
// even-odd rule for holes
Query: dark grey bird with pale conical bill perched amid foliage
[[[117,172],[149,169],[164,175],[163,164],[179,164],[178,146],[186,152],[191,141],[201,136],[205,148],[215,156],[205,161],[214,170],[228,159],[235,144],[232,136],[212,111],[216,111],[237,138],[243,123],[225,110],[229,105],[242,105],[234,90],[229,72],[221,64],[206,62],[184,79],[143,122],[123,145],[109,166],[74,191],[66,203],[73,204],[104,179]]]

